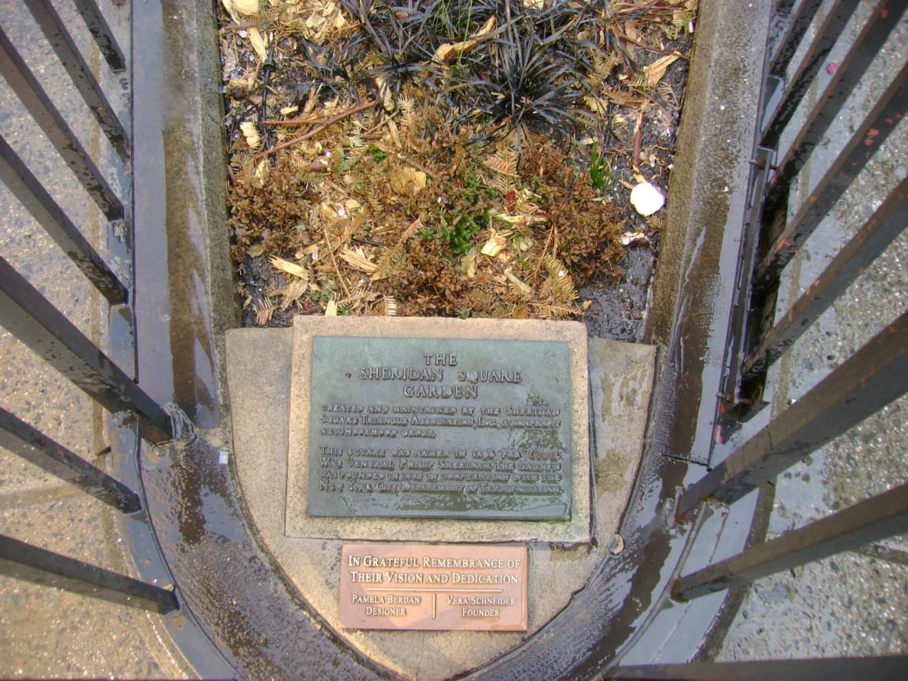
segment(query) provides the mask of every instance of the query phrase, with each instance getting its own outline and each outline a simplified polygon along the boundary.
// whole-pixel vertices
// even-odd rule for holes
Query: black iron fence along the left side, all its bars
[[[122,5],[122,3],[117,3]],[[74,0],[74,5],[113,72],[127,69],[127,60],[95,0]],[[74,39],[49,0],[22,0],[34,17],[117,156],[118,171],[128,175],[129,122],[114,112],[99,80],[80,54]],[[129,8],[121,8],[128,12]],[[92,156],[74,134],[39,79],[29,69],[15,44],[0,28],[0,73],[25,110],[40,126],[47,140],[84,187],[123,244],[118,253],[123,269],[112,267],[85,238],[68,216],[68,206],[54,201],[7,140],[0,137],[0,180],[40,223],[79,271],[104,296],[112,311],[129,311],[133,304],[131,189],[118,193],[107,182]],[[128,79],[127,79],[128,82]],[[125,275],[125,276],[124,276]],[[124,315],[134,319],[132,314]],[[136,417],[140,436],[149,442],[173,439],[172,420],[163,407],[133,380],[134,366],[123,370],[97,347],[62,311],[54,307],[25,276],[0,257],[0,323],[37,356],[83,390],[111,413]],[[127,334],[134,337],[134,333]],[[134,350],[133,350],[134,361]],[[132,375],[130,375],[132,374]],[[128,419],[127,419],[128,420]],[[122,422],[123,419],[121,418]],[[15,414],[0,408],[0,446],[34,463],[54,476],[84,490],[123,514],[142,511],[141,489],[130,489],[75,452],[66,449]],[[38,584],[63,587],[76,593],[167,613],[180,607],[173,589],[89,565],[74,558],[38,548],[15,538],[0,537],[0,572]]]

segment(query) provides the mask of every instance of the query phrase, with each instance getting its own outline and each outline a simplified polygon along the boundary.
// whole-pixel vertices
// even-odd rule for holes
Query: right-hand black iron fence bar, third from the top
[[[765,211],[772,214],[775,207],[788,194],[788,187],[804,163],[823,141],[823,136],[835,120],[845,100],[864,78],[867,68],[885,44],[893,28],[898,25],[908,9],[908,0],[883,0],[873,10],[860,35],[857,36],[838,70],[826,85],[823,94],[807,115],[806,123],[795,137],[795,142],[778,163],[779,171],[772,180],[773,186],[766,192]]]

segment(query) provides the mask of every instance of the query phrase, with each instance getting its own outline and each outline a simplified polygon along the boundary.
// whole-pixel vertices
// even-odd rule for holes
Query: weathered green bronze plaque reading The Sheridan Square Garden
[[[567,341],[312,339],[309,515],[570,519]]]

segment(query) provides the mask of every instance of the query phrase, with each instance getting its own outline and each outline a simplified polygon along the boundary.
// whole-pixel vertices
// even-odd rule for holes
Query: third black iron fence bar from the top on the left
[[[85,191],[97,203],[104,217],[108,220],[123,218],[123,204],[76,139],[64,117],[44,93],[44,89],[6,37],[2,27],[0,27],[0,73],[82,183]]]

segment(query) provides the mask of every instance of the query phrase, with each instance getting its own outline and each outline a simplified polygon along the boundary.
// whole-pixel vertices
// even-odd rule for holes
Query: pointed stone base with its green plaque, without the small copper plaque
[[[340,383],[341,392],[312,385],[313,349],[318,354],[316,380]],[[536,350],[541,354],[534,354]],[[404,357],[408,360],[400,361]],[[606,558],[642,452],[655,357],[650,346],[587,340],[585,327],[577,322],[298,317],[293,329],[230,331],[233,460],[252,522],[301,596],[350,646],[408,678],[440,681],[465,673],[518,646],[548,623]],[[487,372],[485,380],[479,380],[480,370]],[[543,374],[549,382],[538,382]],[[555,404],[560,398],[550,381],[561,379],[566,399]],[[534,388],[534,381],[548,388]],[[471,387],[479,399],[472,393],[464,397]],[[452,413],[449,406],[455,402]],[[475,410],[470,412],[470,407]],[[555,423],[559,420],[565,421],[560,431],[561,424]],[[373,429],[397,432],[379,437],[370,435]],[[407,435],[401,435],[404,430]],[[563,433],[560,439],[555,432]],[[508,433],[520,437],[508,439]],[[528,434],[537,439],[526,439]],[[550,440],[551,446],[533,446],[540,444],[538,438]],[[530,445],[503,446],[501,439]],[[315,488],[313,451],[327,457],[325,466],[320,460],[314,469]],[[330,459],[341,468],[332,467]],[[516,462],[513,468],[508,459]],[[558,471],[552,465],[529,465],[553,461],[561,464]],[[332,468],[337,477],[331,475]],[[531,469],[538,469],[536,477]],[[332,515],[316,516],[308,497],[310,489],[318,489],[322,470],[329,471],[322,491],[331,489],[329,482],[346,489],[354,482],[373,486],[347,492],[354,499],[372,494],[400,497],[402,488],[380,491],[378,482],[385,490],[400,484],[401,473],[420,472],[421,479],[411,478],[410,484],[426,489],[410,491],[431,501],[419,507],[418,518],[407,517],[397,501],[391,504],[396,505],[392,517],[365,515],[371,512],[370,502],[351,509],[350,515],[342,509],[347,504],[338,507],[341,513],[332,507]],[[357,471],[383,477],[369,479]],[[398,479],[389,479],[389,473]],[[558,482],[556,474],[561,476]],[[486,488],[480,488],[482,484]],[[534,519],[502,515],[501,505],[494,502],[484,511],[480,489],[489,490],[491,499],[502,491],[523,499],[541,495],[551,501],[541,505],[550,517],[523,501],[518,505],[530,508],[528,517]],[[568,499],[568,504],[552,513],[558,499]],[[431,517],[433,504],[447,509],[447,517]],[[458,515],[462,508],[473,515]],[[370,543],[377,548],[528,548],[526,631],[343,628],[341,552],[345,545]]]

